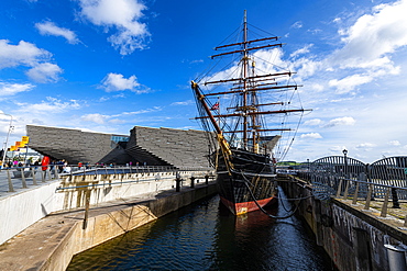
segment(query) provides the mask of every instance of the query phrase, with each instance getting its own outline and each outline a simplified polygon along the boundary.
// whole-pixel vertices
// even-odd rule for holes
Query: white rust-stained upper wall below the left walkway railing
[[[199,171],[178,172],[185,180]],[[132,174],[67,176],[20,193],[0,199],[0,245],[30,225],[55,212],[84,208],[118,199],[170,190],[175,172]],[[188,184],[187,184],[188,185]]]

